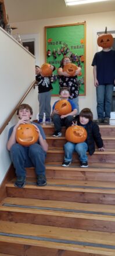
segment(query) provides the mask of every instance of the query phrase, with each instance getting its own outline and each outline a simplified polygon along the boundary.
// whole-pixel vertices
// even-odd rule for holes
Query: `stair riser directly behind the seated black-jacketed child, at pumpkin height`
[[[67,142],[66,139],[46,139],[49,148],[63,148],[63,145]],[[115,148],[115,140],[103,140],[103,144],[105,145],[105,148]],[[97,147],[96,147],[97,148]]]

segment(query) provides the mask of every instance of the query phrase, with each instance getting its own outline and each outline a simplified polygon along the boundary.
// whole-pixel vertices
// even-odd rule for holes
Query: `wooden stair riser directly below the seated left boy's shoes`
[[[15,187],[7,187],[8,197],[36,198],[42,200],[57,200],[70,202],[87,202],[94,204],[115,204],[115,195],[99,193],[80,192],[80,191],[61,191],[61,190],[44,190],[44,189],[15,189]]]

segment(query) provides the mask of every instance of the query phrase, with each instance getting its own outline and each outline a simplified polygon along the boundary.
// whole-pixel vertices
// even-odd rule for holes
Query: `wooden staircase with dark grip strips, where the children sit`
[[[63,136],[52,137],[43,125],[49,151],[48,185],[36,186],[27,168],[23,189],[6,184],[0,202],[0,256],[115,256],[115,126],[100,126],[105,152],[88,156],[80,168],[77,155],[62,167]]]

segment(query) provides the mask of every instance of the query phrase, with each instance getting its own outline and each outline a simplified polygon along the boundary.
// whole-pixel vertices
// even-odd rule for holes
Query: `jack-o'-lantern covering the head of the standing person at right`
[[[107,27],[105,29],[105,34],[100,34],[97,42],[98,42],[98,45],[102,48],[112,47],[113,36],[112,36],[112,34],[107,34]]]

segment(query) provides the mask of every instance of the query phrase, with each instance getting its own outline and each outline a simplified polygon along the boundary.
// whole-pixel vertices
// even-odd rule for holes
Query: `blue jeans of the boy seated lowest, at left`
[[[16,143],[10,149],[10,157],[16,169],[16,176],[26,177],[26,167],[35,167],[37,175],[45,175],[46,152],[41,145],[35,143],[30,147],[23,147]]]

